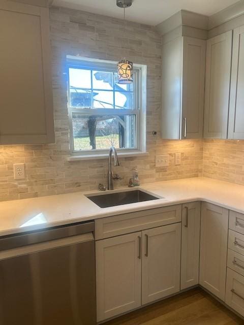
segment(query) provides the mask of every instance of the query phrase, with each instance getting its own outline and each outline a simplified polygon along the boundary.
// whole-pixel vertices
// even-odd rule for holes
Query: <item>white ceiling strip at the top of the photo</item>
[[[238,0],[133,0],[126,10],[126,19],[157,25],[181,9],[211,16],[239,2]],[[123,9],[116,0],[54,0],[54,6],[67,7],[101,15],[123,18]]]

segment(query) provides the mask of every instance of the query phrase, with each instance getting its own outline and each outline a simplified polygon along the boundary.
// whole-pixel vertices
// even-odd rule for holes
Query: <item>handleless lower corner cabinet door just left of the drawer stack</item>
[[[199,283],[225,300],[229,210],[202,203]]]

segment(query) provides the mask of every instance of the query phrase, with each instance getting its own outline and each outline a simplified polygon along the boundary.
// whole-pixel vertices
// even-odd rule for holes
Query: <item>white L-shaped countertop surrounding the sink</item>
[[[97,193],[91,191],[1,202],[0,236],[193,201],[205,201],[244,213],[242,185],[198,177],[143,184],[140,188],[162,199],[100,208],[85,196]]]

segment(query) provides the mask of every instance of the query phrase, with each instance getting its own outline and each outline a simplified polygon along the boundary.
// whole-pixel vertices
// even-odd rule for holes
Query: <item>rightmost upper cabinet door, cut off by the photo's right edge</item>
[[[244,139],[244,26],[234,29],[229,139]]]

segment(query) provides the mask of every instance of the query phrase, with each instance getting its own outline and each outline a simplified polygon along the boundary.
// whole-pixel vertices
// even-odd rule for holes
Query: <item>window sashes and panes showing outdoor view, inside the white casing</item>
[[[118,84],[115,69],[69,65],[74,151],[136,148],[135,85]]]

